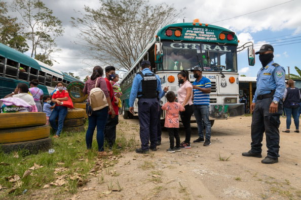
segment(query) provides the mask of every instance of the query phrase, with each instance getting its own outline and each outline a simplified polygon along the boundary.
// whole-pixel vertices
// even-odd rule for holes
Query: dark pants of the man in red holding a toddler
[[[116,126],[118,124],[118,115],[115,118],[111,118],[111,115],[107,116],[107,120],[104,127],[104,141],[106,141],[109,147],[112,147],[116,140]]]

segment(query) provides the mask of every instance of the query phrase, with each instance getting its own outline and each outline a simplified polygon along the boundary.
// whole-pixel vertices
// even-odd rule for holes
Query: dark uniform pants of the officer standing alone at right
[[[251,124],[251,152],[254,154],[261,153],[261,142],[264,137],[264,132],[266,132],[268,157],[276,159],[279,157],[279,125],[283,103],[279,101],[278,112],[271,114],[269,113],[269,109],[272,101],[273,97],[258,99],[256,101]]]

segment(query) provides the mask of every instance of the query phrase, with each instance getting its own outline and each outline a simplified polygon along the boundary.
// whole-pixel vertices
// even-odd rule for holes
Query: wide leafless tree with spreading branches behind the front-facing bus
[[[150,6],[146,0],[99,0],[100,7],[85,6],[74,27],[89,48],[89,56],[104,64],[129,69],[158,29],[176,21],[183,10],[164,3]]]

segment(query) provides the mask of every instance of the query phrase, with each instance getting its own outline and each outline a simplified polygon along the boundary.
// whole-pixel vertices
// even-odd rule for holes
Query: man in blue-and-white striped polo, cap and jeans
[[[194,77],[196,78],[195,82],[193,83],[193,96],[195,105],[194,114],[197,120],[199,134],[199,138],[194,140],[194,143],[204,142],[204,146],[209,146],[211,144],[211,123],[209,120],[209,94],[211,92],[211,82],[208,78],[202,76],[201,67],[193,67],[191,71],[194,72]],[[206,132],[205,140],[203,133],[204,128]]]

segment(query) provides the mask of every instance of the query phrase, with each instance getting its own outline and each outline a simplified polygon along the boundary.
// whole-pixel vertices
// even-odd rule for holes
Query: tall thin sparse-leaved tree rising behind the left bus
[[[55,38],[63,35],[62,22],[53,16],[52,10],[40,0],[14,0],[14,11],[18,12],[28,28],[26,39],[31,42],[31,57],[37,55],[39,48],[44,56],[58,51]],[[41,58],[41,56],[37,57]]]

